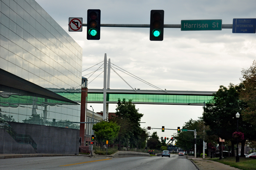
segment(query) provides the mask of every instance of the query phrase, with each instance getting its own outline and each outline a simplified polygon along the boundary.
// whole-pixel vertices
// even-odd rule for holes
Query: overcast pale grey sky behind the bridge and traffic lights
[[[164,10],[165,24],[180,24],[181,20],[222,19],[232,24],[233,18],[256,18],[256,1],[252,0],[36,0],[39,5],[68,32],[69,17],[82,17],[87,23],[87,9],[101,10],[102,24],[149,24],[152,9]],[[87,40],[83,32],[68,32],[83,48],[83,70],[104,60],[167,90],[217,91],[220,85],[239,84],[241,69],[256,59],[255,34],[233,34],[221,31],[180,31],[165,28],[163,41],[150,41],[149,28],[101,27],[100,40]],[[99,66],[82,72],[87,75]],[[103,71],[103,70],[102,70]],[[103,88],[102,71],[88,81],[89,89]],[[122,72],[118,72],[133,88],[154,89]],[[93,79],[98,76],[94,81]],[[131,89],[111,71],[111,89]],[[95,112],[102,104],[92,105]],[[89,107],[90,108],[90,107]],[[109,112],[115,112],[111,104]],[[176,129],[189,119],[202,116],[201,106],[142,105],[142,127]],[[236,113],[234,113],[236,114]],[[159,137],[171,137],[169,130]]]

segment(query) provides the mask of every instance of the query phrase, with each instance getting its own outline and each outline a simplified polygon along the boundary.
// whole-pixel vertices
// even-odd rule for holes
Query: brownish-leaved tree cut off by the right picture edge
[[[244,89],[240,92],[240,99],[247,103],[247,108],[242,111],[243,120],[256,126],[256,61],[249,69],[242,69],[241,79]]]

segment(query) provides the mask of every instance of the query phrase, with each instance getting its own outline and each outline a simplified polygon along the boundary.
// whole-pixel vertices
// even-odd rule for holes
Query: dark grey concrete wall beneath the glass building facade
[[[18,134],[30,135],[37,144],[37,153],[52,154],[78,154],[79,153],[79,130],[50,127],[36,124],[25,124],[17,122],[8,122]],[[10,153],[10,148],[17,145],[17,142],[6,132],[2,138],[4,130],[0,133],[0,153]],[[11,141],[12,139],[12,141]],[[11,144],[12,143],[12,144]],[[16,143],[16,144],[15,144]],[[20,144],[18,144],[20,146]],[[22,144],[28,147],[29,144]],[[3,147],[4,146],[4,147]],[[21,146],[20,146],[21,147]],[[20,148],[19,147],[19,148]],[[19,149],[20,153],[27,153],[26,147]],[[31,145],[29,145],[33,149]],[[34,149],[33,149],[34,150]],[[32,151],[29,151],[33,153]],[[35,150],[34,150],[35,152]]]

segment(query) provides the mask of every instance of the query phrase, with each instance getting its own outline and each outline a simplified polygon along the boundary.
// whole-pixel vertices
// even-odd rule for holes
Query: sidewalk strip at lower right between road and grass
[[[198,170],[239,170],[235,167],[230,167],[216,161],[211,161],[202,158],[195,158],[195,156],[187,156],[187,158],[195,164]]]

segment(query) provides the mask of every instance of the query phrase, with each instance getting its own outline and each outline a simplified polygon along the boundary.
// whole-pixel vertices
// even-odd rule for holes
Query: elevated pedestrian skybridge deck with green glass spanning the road
[[[107,89],[107,103],[132,99],[133,104],[204,105],[213,97],[211,91]],[[103,103],[103,89],[88,89],[88,103]]]

